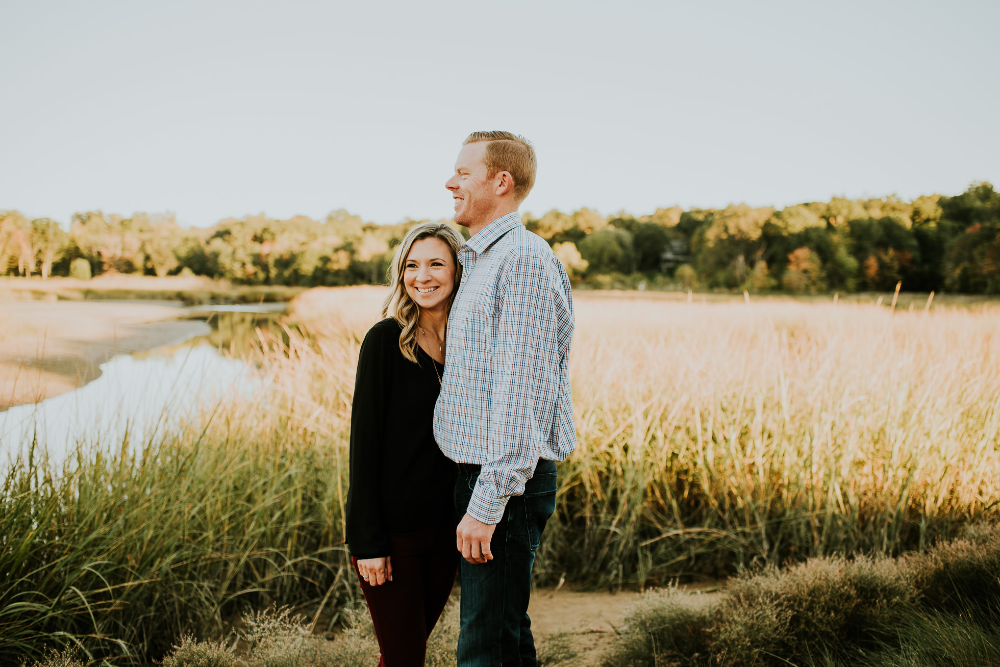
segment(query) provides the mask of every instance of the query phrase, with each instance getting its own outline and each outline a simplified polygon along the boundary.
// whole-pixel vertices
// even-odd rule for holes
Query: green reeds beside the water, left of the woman
[[[356,601],[333,448],[255,417],[59,472],[18,462],[0,488],[0,663],[75,643],[143,664],[276,600]]]

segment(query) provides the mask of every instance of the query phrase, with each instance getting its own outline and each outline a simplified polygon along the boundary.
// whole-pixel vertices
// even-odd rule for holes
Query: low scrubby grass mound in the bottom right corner
[[[899,559],[748,571],[715,601],[648,593],[603,667],[1000,664],[1000,530]]]

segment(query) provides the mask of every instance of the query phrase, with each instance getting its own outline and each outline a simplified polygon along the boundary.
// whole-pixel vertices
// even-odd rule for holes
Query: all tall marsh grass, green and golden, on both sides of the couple
[[[253,353],[273,388],[260,404],[66,471],[9,472],[0,660],[72,635],[141,662],[275,602],[336,620],[356,596],[341,545],[354,364],[382,294],[297,299],[306,333],[264,336]],[[587,295],[577,307],[579,448],[561,465],[540,583],[898,555],[998,514],[997,308]]]

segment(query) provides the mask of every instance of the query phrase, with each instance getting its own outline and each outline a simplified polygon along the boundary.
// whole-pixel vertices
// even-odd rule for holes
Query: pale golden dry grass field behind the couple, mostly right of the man
[[[382,295],[316,290],[297,303],[311,340],[276,375],[295,378],[323,432],[342,431],[346,412],[322,409],[316,383],[350,382],[345,341],[376,319]],[[576,306],[579,447],[561,465],[542,580],[641,585],[894,554],[997,513],[996,306],[586,293]]]

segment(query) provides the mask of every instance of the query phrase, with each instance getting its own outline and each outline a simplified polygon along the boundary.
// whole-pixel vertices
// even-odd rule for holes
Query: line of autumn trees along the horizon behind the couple
[[[657,209],[602,216],[583,208],[523,216],[571,278],[592,287],[818,293],[1000,293],[1000,193],[906,202],[833,198],[788,206]],[[364,222],[343,210],[323,220],[265,215],[185,228],[172,214],[88,211],[69,230],[0,211],[0,276],[90,278],[107,273],[195,274],[237,284],[381,283],[392,250],[420,221]],[[464,232],[464,230],[463,230]]]

